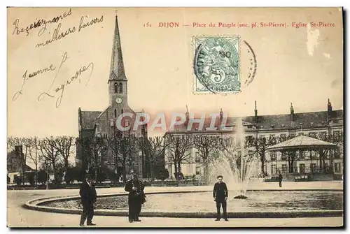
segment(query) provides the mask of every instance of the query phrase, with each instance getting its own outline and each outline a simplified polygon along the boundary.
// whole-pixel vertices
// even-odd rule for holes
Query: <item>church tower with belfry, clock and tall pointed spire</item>
[[[114,29],[111,71],[109,73],[109,116],[116,119],[127,108],[127,78],[120,43],[118,16]]]

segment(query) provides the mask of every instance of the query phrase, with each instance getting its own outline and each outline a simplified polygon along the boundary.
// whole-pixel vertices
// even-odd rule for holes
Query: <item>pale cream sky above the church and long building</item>
[[[43,26],[30,29],[28,35],[16,31],[63,13],[66,17],[46,24],[45,30]],[[109,105],[115,16],[115,8],[8,8],[8,136],[78,136],[78,108],[102,111]],[[180,27],[158,27],[160,22],[179,22]],[[228,29],[192,27],[193,22],[274,22],[288,27]],[[323,22],[323,27],[296,28],[293,22]],[[152,26],[144,27],[147,23]],[[325,23],[332,27],[324,27]],[[246,116],[254,114],[257,101],[259,115],[276,115],[289,113],[290,102],[295,112],[327,110],[328,98],[333,110],[342,109],[343,36],[338,8],[118,8],[118,24],[128,103],[135,111],[186,112],[188,105],[190,112],[222,108],[229,116]],[[52,40],[55,31],[66,36],[36,47]],[[235,35],[247,41],[256,55],[254,80],[239,94],[193,94],[193,37]],[[244,43],[240,45],[243,78],[249,61]],[[57,108],[62,90],[55,90],[84,67],[86,71],[64,87]],[[38,70],[43,72],[29,77]],[[19,91],[22,94],[13,98]],[[45,92],[55,98],[43,94],[38,101]]]

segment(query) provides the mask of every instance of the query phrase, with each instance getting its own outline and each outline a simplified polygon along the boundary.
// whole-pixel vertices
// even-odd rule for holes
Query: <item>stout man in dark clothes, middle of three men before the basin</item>
[[[137,174],[132,175],[132,180],[125,184],[125,191],[129,192],[129,221],[141,221],[139,215],[141,213],[142,204],[145,202],[144,184],[137,178]]]

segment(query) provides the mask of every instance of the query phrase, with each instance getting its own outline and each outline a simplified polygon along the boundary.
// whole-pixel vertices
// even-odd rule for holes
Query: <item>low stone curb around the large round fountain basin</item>
[[[272,190],[255,190],[255,191],[272,191]],[[281,189],[276,190],[281,191]],[[292,191],[292,190],[286,190]],[[298,191],[298,190],[293,190]],[[305,190],[302,190],[305,191]],[[318,189],[309,189],[308,191],[320,191]],[[340,189],[322,189],[321,191],[342,191]],[[149,192],[147,194],[165,194],[165,193],[199,193],[208,192],[205,191],[159,191]],[[127,193],[109,193],[98,196],[99,198],[109,196],[125,196]],[[52,201],[59,200],[76,200],[80,196],[58,196],[50,198],[36,198],[34,200],[27,201],[23,207],[29,210],[37,210],[42,212],[54,212],[62,214],[81,214],[82,210],[79,209],[66,209],[57,207],[47,207],[44,204]],[[127,210],[94,210],[94,215],[99,216],[116,216],[127,217]],[[299,217],[342,217],[343,210],[307,210],[307,211],[281,211],[281,212],[228,212],[229,218],[299,218]],[[169,218],[216,218],[215,212],[156,212],[156,211],[142,211],[140,217],[169,217]]]

